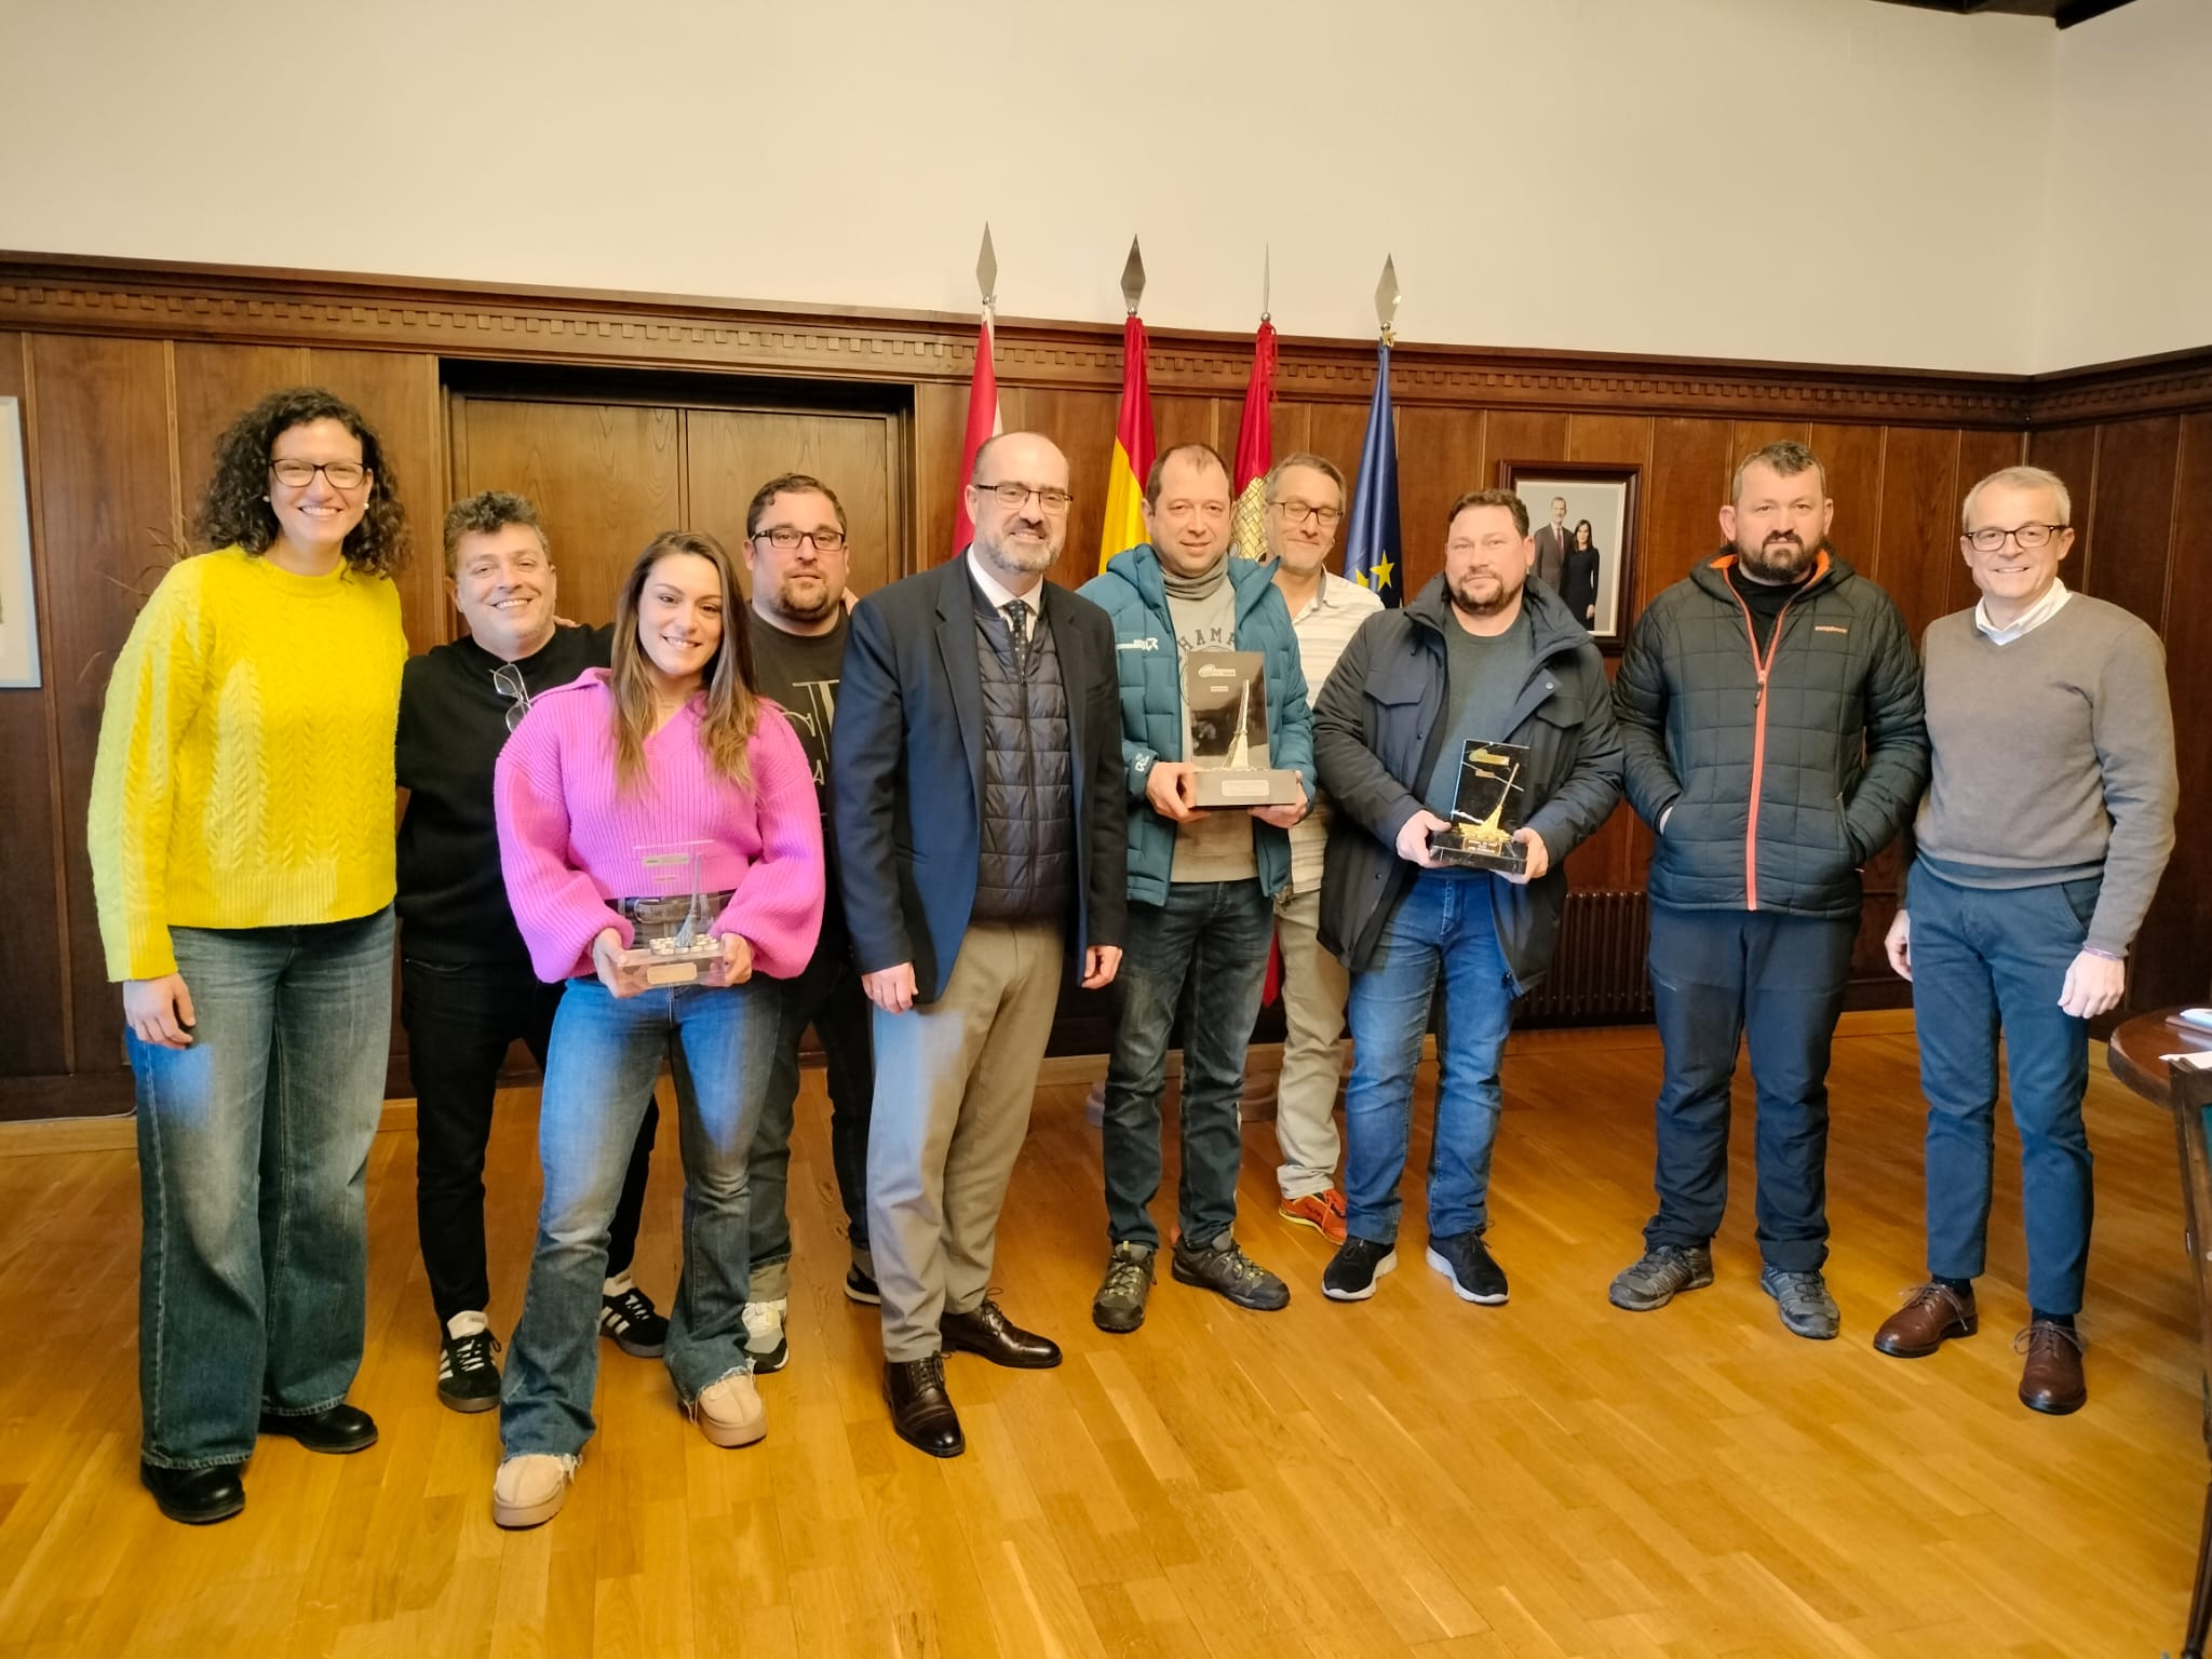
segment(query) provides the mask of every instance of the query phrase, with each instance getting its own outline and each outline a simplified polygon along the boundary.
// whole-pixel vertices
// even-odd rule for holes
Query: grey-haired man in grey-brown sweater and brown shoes
[[[1913,982],[1929,1102],[1929,1283],[1874,1336],[1922,1358],[1978,1327],[2002,1026],[2028,1232],[2020,1400],[2053,1413],[2088,1398],[2086,1022],[2126,991],[2179,794],[2159,637],[2066,591],[2068,518],[2066,484],[2039,467],[1975,484],[1960,551],[1982,599],[1922,641],[1933,776],[1889,962]]]

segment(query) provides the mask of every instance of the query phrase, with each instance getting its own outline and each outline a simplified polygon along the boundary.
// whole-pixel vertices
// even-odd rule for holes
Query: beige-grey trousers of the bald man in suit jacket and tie
[[[1060,1002],[1053,922],[975,922],[936,1002],[876,1009],[867,1239],[883,1292],[883,1358],[936,1354],[947,1310],[991,1287],[998,1212],[1029,1133]]]

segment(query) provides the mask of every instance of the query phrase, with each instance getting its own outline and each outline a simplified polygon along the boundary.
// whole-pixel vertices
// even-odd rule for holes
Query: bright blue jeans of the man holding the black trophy
[[[1498,947],[1491,878],[1425,869],[1376,940],[1374,958],[1352,975],[1345,1232],[1354,1239],[1398,1241],[1413,1071],[1438,980],[1444,1015],[1436,1031],[1429,1237],[1489,1225],[1491,1146],[1504,1108],[1498,1062],[1513,1024],[1513,975]]]

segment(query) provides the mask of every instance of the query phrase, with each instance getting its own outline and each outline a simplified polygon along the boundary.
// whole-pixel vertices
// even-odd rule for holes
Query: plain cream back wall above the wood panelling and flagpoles
[[[1155,325],[1250,327],[1272,243],[1292,334],[1369,334],[1394,252],[1411,341],[2020,372],[2044,274],[1958,239],[2039,175],[2059,40],[1869,0],[0,0],[0,246],[962,312],[989,217],[1015,316],[1117,319],[1137,230]]]

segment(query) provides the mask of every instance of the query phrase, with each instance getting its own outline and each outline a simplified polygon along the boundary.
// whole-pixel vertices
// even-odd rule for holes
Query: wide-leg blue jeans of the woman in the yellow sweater
[[[139,1455],[246,1462],[263,1411],[345,1398],[367,1314],[365,1175],[392,1053],[392,909],[173,927],[190,1048],[131,1037]]]

